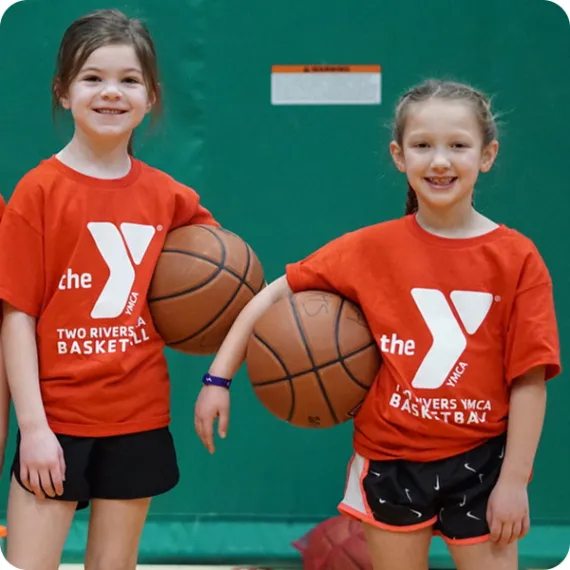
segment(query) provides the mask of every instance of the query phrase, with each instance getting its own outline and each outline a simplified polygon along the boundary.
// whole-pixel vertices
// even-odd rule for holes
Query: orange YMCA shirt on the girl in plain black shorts
[[[101,180],[57,158],[17,185],[0,224],[0,298],[37,319],[40,389],[55,433],[164,427],[170,387],[147,291],[169,230],[218,225],[192,190],[133,159]]]

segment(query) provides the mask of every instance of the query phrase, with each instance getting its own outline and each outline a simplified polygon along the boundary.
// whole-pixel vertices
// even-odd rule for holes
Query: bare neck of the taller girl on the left
[[[94,140],[76,130],[73,138],[57,154],[67,166],[97,178],[121,178],[131,169],[129,139]]]

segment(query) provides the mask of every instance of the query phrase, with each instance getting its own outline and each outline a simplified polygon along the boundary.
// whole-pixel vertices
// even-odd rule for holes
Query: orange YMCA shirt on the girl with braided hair
[[[287,279],[358,303],[376,339],[382,366],[354,420],[365,458],[468,451],[506,430],[513,379],[538,365],[560,373],[551,278],[506,226],[447,239],[406,216],[332,241]]]

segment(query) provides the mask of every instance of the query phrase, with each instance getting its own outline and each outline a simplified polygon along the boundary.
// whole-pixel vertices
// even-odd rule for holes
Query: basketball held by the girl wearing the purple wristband
[[[322,291],[296,293],[269,308],[254,326],[246,359],[261,403],[305,428],[352,419],[381,362],[360,308]]]

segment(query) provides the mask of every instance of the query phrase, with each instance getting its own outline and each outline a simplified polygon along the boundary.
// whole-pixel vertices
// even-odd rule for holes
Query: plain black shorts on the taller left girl
[[[56,436],[63,448],[65,481],[63,495],[48,498],[77,501],[77,509],[86,508],[91,499],[161,495],[180,478],[168,428],[112,437]],[[22,485],[19,433],[12,474]]]

